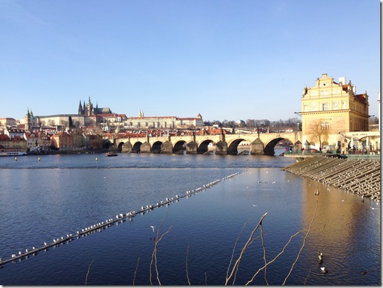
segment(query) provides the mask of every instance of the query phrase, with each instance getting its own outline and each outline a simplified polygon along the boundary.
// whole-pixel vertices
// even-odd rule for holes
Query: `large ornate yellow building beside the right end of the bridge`
[[[368,94],[357,94],[355,85],[347,83],[345,77],[335,80],[322,74],[315,86],[304,87],[300,114],[303,143],[308,141],[316,149],[328,146],[348,150],[351,133],[368,132]],[[360,137],[358,140],[363,141]],[[363,147],[360,144],[359,148]],[[369,141],[364,143],[368,146]]]

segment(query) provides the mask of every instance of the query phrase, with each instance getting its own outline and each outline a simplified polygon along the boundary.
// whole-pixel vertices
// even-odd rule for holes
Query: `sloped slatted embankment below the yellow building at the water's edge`
[[[380,161],[316,156],[282,170],[380,201]]]

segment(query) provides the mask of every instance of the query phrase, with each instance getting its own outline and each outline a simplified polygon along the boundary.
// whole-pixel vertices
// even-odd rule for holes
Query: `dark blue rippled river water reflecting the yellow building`
[[[3,260],[221,181],[131,222],[3,264],[0,285],[224,285],[231,259],[232,269],[265,213],[230,284],[254,278],[251,285],[381,285],[380,204],[281,171],[294,161],[189,154],[2,157]]]

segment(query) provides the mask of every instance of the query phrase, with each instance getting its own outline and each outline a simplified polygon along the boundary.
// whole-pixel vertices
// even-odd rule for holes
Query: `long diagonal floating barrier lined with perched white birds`
[[[246,170],[243,170],[245,172]],[[227,177],[223,177],[222,180],[230,179],[238,174],[241,174],[243,172],[236,172],[234,174],[231,174]],[[25,249],[25,252],[19,251],[17,254],[12,254],[11,258],[8,258],[6,260],[3,260],[0,258],[0,267],[3,264],[6,264],[8,262],[15,262],[16,260],[21,260],[22,258],[29,258],[30,255],[37,255],[39,251],[48,251],[50,247],[56,247],[60,244],[69,243],[75,239],[80,239],[80,237],[84,237],[86,235],[89,235],[94,232],[101,232],[105,228],[108,228],[112,226],[113,224],[119,224],[120,222],[125,222],[126,220],[132,221],[133,217],[136,215],[142,213],[144,214],[147,211],[153,210],[154,208],[160,208],[162,206],[169,206],[169,204],[173,203],[174,201],[178,201],[181,198],[187,197],[189,198],[191,195],[196,194],[197,192],[201,192],[203,190],[206,190],[208,188],[212,188],[214,185],[221,182],[221,179],[217,179],[215,181],[212,181],[210,183],[207,183],[203,185],[202,187],[196,188],[194,190],[186,191],[185,195],[176,195],[175,197],[166,198],[165,201],[160,201],[156,203],[155,205],[147,205],[147,206],[141,206],[140,210],[132,210],[127,213],[119,213],[118,215],[115,215],[115,218],[109,218],[106,219],[104,222],[98,222],[96,224],[93,224],[91,226],[87,226],[85,228],[82,228],[81,231],[76,231],[75,233],[66,234],[66,237],[62,236],[59,238],[54,238],[52,242],[44,242],[44,246],[35,247],[33,246],[31,250]]]

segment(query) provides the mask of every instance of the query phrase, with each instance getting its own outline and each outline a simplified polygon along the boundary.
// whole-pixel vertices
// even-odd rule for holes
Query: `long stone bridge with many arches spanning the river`
[[[238,154],[242,141],[250,143],[250,154],[274,155],[274,146],[282,139],[295,145],[295,150],[302,147],[302,132],[252,133],[252,134],[217,134],[186,136],[144,136],[115,138],[113,146],[127,153],[183,153],[204,154],[208,145],[215,145],[215,154]]]

